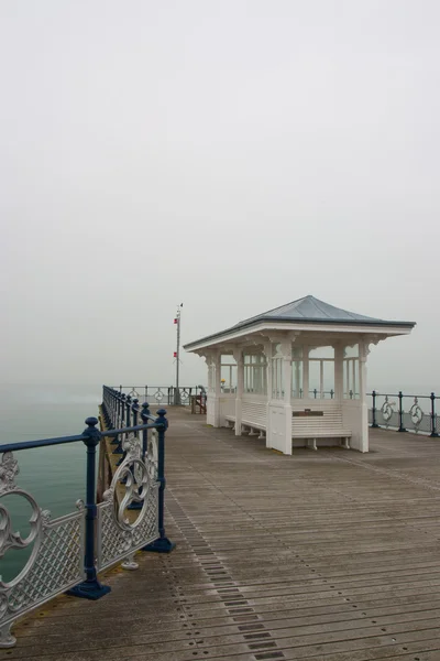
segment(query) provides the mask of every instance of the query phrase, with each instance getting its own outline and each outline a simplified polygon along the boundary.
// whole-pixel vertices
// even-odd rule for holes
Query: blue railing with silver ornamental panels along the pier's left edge
[[[101,412],[103,432],[97,429],[97,418],[88,418],[87,429],[75,436],[0,445],[0,559],[7,551],[30,552],[12,579],[3,582],[0,576],[0,648],[15,644],[10,629],[16,618],[58,594],[99,599],[110,592],[98,579],[100,571],[121,561],[124,568],[136,568],[136,551],[174,548],[164,528],[166,411],[161,409],[154,418],[147,407],[141,411],[122,393],[105,387]],[[103,437],[113,438],[123,455],[102,501],[97,502],[96,454]],[[86,502],[77,500],[70,513],[51,519],[51,512],[16,484],[14,453],[78,442],[87,448]],[[14,531],[11,499],[31,507],[24,539]]]

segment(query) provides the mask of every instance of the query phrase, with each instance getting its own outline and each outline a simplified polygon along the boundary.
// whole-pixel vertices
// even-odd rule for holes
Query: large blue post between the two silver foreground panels
[[[111,590],[109,585],[99,583],[95,566],[95,522],[97,518],[96,448],[101,440],[101,432],[96,429],[96,425],[98,424],[97,418],[88,418],[86,424],[87,429],[84,431],[84,435],[87,436],[84,441],[87,446],[86,581],[69,589],[67,594],[85,599],[100,599]]]

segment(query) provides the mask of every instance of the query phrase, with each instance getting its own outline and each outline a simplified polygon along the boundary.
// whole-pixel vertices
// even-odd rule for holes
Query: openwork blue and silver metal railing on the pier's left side
[[[142,419],[142,424],[138,424],[139,414]],[[88,599],[99,599],[100,597],[105,596],[110,592],[110,587],[108,585],[103,585],[98,581],[98,567],[100,565],[99,552],[97,553],[97,548],[98,550],[101,548],[99,545],[99,542],[97,542],[97,531],[100,530],[101,525],[101,523],[99,522],[97,524],[98,509],[99,511],[103,512],[105,510],[100,508],[107,508],[106,511],[109,511],[109,506],[111,506],[111,511],[113,508],[113,506],[111,505],[112,501],[108,501],[108,499],[106,498],[103,502],[97,502],[96,454],[97,446],[100,445],[102,438],[113,438],[113,443],[116,442],[118,445],[114,453],[122,454],[121,460],[118,463],[122,467],[116,472],[113,476],[113,481],[118,481],[119,479],[121,479],[119,477],[121,472],[123,472],[123,474],[128,476],[127,488],[129,489],[128,494],[130,497],[127,501],[127,505],[131,505],[132,502],[133,505],[135,505],[139,501],[142,501],[144,503],[139,520],[141,520],[141,516],[142,520],[148,520],[147,518],[145,518],[145,508],[150,507],[150,500],[145,499],[145,494],[150,494],[150,491],[143,491],[141,495],[140,489],[143,488],[142,485],[144,483],[136,483],[136,470],[147,470],[147,466],[154,465],[154,472],[150,474],[151,477],[148,478],[154,480],[156,492],[156,497],[154,500],[153,518],[153,521],[155,522],[154,533],[148,533],[148,537],[141,537],[138,541],[138,546],[134,546],[134,550],[142,548],[142,550],[144,551],[169,552],[175,546],[175,544],[170,542],[165,535],[164,527],[164,491],[166,486],[165,433],[168,427],[166,411],[164,409],[160,409],[157,411],[157,416],[153,416],[150,413],[148,405],[146,403],[144,403],[141,407],[139,405],[138,400],[132,401],[130,397],[125,397],[124,394],[111,388],[103,387],[101,415],[101,420],[103,423],[102,426],[105,427],[102,431],[99,431],[99,429],[97,429],[97,418],[87,418],[87,427],[81,434],[70,436],[57,436],[54,438],[40,438],[35,441],[22,441],[0,445],[0,455],[2,455],[0,457],[0,498],[10,494],[16,494],[18,496],[24,497],[31,503],[34,510],[33,518],[31,519],[32,532],[30,533],[30,535],[28,535],[25,540],[22,540],[20,533],[13,532],[10,512],[4,506],[1,506],[2,514],[7,518],[7,527],[4,529],[7,534],[0,538],[0,557],[6,553],[8,549],[24,549],[26,546],[30,546],[31,543],[33,544],[31,557],[28,561],[25,567],[20,572],[20,574],[10,583],[1,583],[0,578],[0,596],[2,594],[2,590],[6,590],[6,603],[8,604],[8,595],[12,595],[14,589],[22,589],[22,583],[28,581],[28,577],[31,576],[31,572],[33,571],[36,557],[40,553],[38,549],[41,544],[45,543],[43,542],[43,540],[50,539],[43,537],[45,535],[45,527],[47,528],[47,525],[66,525],[69,524],[69,521],[77,521],[77,524],[82,531],[79,537],[80,542],[78,542],[78,551],[80,551],[80,549],[82,549],[82,551],[79,552],[77,560],[75,560],[75,566],[77,566],[77,568],[67,582],[63,578],[63,581],[59,581],[59,583],[52,587],[52,592],[44,592],[44,594],[35,596],[33,600],[28,602],[22,609],[15,609],[10,611],[7,608],[6,610],[2,610],[2,613],[0,614],[0,648],[12,647],[15,643],[15,639],[10,633],[9,628],[12,626],[16,617],[20,617],[24,613],[28,613],[38,607],[48,598],[61,594],[61,592],[64,592],[65,589],[69,588],[68,594]],[[150,457],[150,451],[147,453],[147,435],[148,431],[153,430],[156,431],[156,434],[154,435],[155,441],[153,443],[156,446],[157,452],[155,455],[156,458],[152,464],[151,459],[146,457]],[[16,459],[13,456],[13,453],[22,452],[24,449],[51,446],[53,447],[57,445],[78,442],[82,442],[87,447],[86,503],[78,501],[80,502],[80,506],[78,506],[78,512],[61,517],[54,520],[51,524],[44,523],[50,513],[38,508],[36,501],[34,500],[31,494],[16,487],[15,485],[14,478],[15,475],[19,473],[19,466]],[[109,494],[113,491],[116,492],[116,486],[112,484]],[[125,498],[127,497],[128,495],[125,495]],[[129,509],[136,508],[129,507]],[[64,534],[66,533],[64,532]],[[67,546],[70,545],[70,542],[66,542],[66,544],[67,549]],[[146,545],[142,546],[142,544]],[[50,561],[50,559],[52,557],[52,555],[50,555],[52,553],[52,550],[47,550],[46,548],[45,553],[47,553],[45,557],[47,557]],[[124,556],[127,556],[125,548],[123,550],[123,554]],[[66,559],[67,556],[68,555],[66,554]],[[111,562],[118,562],[118,557],[116,557],[116,560]]]

